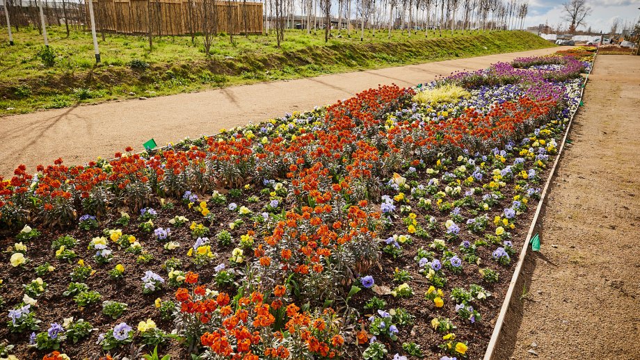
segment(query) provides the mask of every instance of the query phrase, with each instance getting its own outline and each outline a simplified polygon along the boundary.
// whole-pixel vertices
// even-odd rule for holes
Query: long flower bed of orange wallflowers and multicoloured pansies
[[[0,180],[0,352],[481,357],[579,103],[584,64],[556,65],[18,167]]]

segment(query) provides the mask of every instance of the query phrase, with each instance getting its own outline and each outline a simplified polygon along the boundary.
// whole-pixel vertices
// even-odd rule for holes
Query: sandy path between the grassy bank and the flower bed
[[[67,165],[112,156],[127,146],[142,149],[202,133],[259,122],[291,111],[331,104],[378,84],[410,86],[462,69],[481,69],[518,56],[550,54],[558,48],[522,51],[318,76],[294,81],[243,85],[221,90],[115,101],[97,105],[0,117],[0,174],[24,163],[32,170],[62,157]]]

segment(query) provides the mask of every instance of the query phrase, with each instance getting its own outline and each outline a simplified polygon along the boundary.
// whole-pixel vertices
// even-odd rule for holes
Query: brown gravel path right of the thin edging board
[[[496,359],[640,359],[640,58],[589,80]]]

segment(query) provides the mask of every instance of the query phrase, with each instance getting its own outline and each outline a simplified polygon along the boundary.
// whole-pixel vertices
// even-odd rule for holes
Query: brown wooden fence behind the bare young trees
[[[213,0],[93,0],[98,31],[185,35],[202,33],[209,8],[218,33],[262,33],[262,3]],[[87,11],[88,14],[88,11]],[[87,15],[88,16],[88,15]],[[217,17],[217,22],[215,21]],[[87,18],[88,22],[88,18]]]

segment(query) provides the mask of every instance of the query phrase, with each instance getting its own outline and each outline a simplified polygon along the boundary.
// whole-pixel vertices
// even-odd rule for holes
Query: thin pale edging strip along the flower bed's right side
[[[595,56],[593,56],[593,63],[591,65],[591,69],[586,74],[586,78],[584,79],[584,83],[582,83],[582,90],[580,91],[580,104],[582,104],[582,98],[584,97],[584,89],[586,88],[586,83],[589,81],[589,75],[593,71],[593,67],[595,67],[595,58],[598,57],[598,51],[595,52]],[[529,232],[527,233],[527,237],[525,238],[525,243],[522,245],[522,249],[520,250],[520,257],[518,258],[518,264],[515,265],[515,270],[513,272],[513,276],[511,277],[511,281],[509,282],[509,288],[506,291],[506,295],[504,296],[504,302],[502,303],[502,308],[500,308],[500,313],[495,321],[495,326],[493,327],[493,333],[491,334],[491,338],[489,344],[487,345],[487,350],[484,353],[483,360],[493,360],[493,356],[495,354],[498,341],[502,336],[502,325],[504,324],[504,320],[507,315],[507,311],[509,311],[509,305],[513,301],[513,292],[515,290],[515,285],[518,283],[518,279],[520,278],[520,272],[522,272],[522,265],[525,263],[525,258],[527,257],[527,250],[529,249],[529,243],[531,241],[531,237],[534,235],[534,231],[538,225],[538,218],[545,207],[545,200],[547,198],[547,192],[552,183],[552,179],[555,176],[558,164],[560,163],[560,158],[563,154],[564,145],[566,145],[567,138],[569,136],[569,131],[571,130],[571,125],[573,124],[573,119],[575,115],[578,113],[579,109],[582,106],[578,106],[567,124],[567,129],[564,133],[564,137],[562,138],[562,142],[560,144],[560,148],[558,149],[558,155],[554,161],[553,167],[549,176],[547,177],[547,182],[545,183],[545,187],[541,194],[540,200],[538,201],[538,206],[536,208],[536,214],[534,215],[533,220],[531,220],[531,226],[529,227]]]

